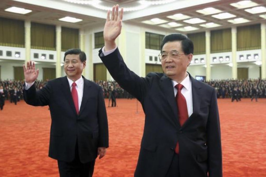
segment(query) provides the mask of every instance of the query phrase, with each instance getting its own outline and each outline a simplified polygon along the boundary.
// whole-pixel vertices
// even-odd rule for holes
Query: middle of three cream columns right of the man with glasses
[[[236,62],[236,27],[232,27],[232,78],[237,79],[237,62]]]

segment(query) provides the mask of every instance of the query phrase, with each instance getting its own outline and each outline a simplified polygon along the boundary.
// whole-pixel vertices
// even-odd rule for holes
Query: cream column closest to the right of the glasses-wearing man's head
[[[211,80],[211,33],[210,31],[205,32],[205,37],[206,37],[206,80],[209,81]]]

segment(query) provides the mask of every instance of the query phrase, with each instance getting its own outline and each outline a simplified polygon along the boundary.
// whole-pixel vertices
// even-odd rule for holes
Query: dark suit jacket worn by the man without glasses
[[[82,76],[83,77],[83,76]],[[49,105],[51,132],[49,157],[70,162],[78,153],[83,163],[97,157],[98,147],[108,147],[108,124],[102,88],[84,79],[83,97],[77,115],[67,77],[50,80],[40,90],[35,85],[24,90],[29,105]]]

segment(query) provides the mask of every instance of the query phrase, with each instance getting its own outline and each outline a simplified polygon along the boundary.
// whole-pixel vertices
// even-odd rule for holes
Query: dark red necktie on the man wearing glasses
[[[185,123],[186,119],[188,119],[188,108],[186,106],[186,98],[181,93],[181,90],[184,86],[182,84],[177,84],[174,87],[177,89],[176,103],[177,103],[177,109],[178,109],[179,122],[180,122],[180,125],[182,126]],[[175,152],[177,154],[179,153],[178,142],[176,143]]]

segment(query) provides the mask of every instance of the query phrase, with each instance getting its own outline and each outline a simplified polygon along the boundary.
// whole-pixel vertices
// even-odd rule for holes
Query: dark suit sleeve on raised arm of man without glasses
[[[25,85],[24,85],[25,87]],[[33,84],[28,90],[23,90],[23,97],[27,104],[32,106],[46,106],[49,104],[51,87],[49,82],[40,90]]]

